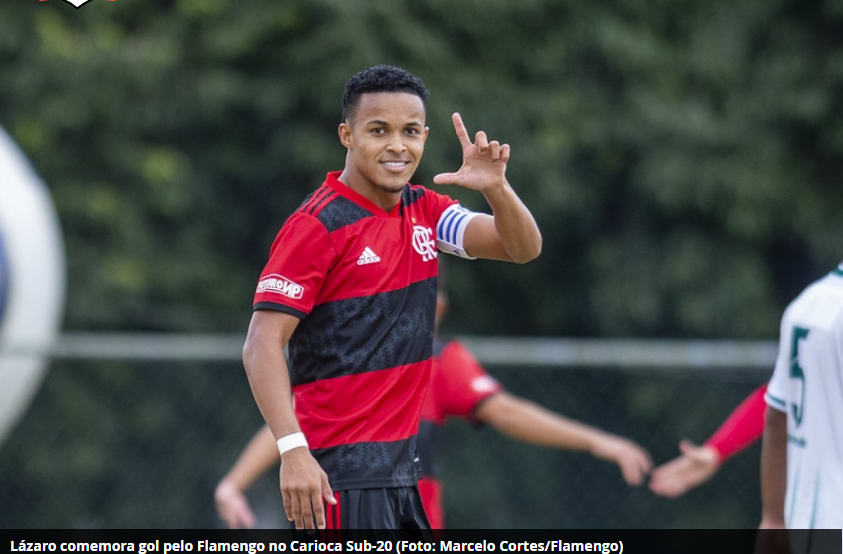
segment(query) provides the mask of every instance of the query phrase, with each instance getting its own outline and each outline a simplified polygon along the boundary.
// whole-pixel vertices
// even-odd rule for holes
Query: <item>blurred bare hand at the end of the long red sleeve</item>
[[[653,470],[650,490],[659,496],[681,496],[711,479],[720,467],[720,456],[710,446],[698,446],[683,439],[679,450],[680,456]]]

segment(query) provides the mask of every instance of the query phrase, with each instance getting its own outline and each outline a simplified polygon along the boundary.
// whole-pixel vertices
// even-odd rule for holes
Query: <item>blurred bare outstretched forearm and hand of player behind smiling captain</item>
[[[640,485],[653,465],[650,455],[628,439],[570,420],[504,391],[482,402],[474,417],[522,442],[581,450],[613,462],[630,485]]]

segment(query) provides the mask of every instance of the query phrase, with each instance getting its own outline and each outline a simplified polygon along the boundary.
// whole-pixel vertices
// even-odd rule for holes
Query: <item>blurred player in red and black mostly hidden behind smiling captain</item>
[[[447,297],[440,289],[436,299],[437,323],[446,310]],[[507,393],[460,342],[443,344],[437,341],[434,350],[432,386],[422,406],[418,438],[422,469],[418,486],[432,528],[442,529],[445,526],[436,444],[439,427],[451,416],[488,424],[523,442],[589,452],[598,459],[616,463],[630,485],[639,485],[652,466],[650,456],[635,443]],[[254,526],[255,517],[244,492],[277,463],[275,440],[272,432],[264,426],[214,492],[217,513],[226,525],[231,528]],[[329,525],[336,526],[335,517],[336,511],[329,507]]]

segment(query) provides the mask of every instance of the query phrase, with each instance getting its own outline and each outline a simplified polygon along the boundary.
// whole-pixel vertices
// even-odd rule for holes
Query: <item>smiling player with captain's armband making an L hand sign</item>
[[[523,263],[541,250],[506,180],[509,145],[483,131],[471,142],[459,114],[463,164],[434,183],[481,192],[494,216],[409,184],[429,132],[427,97],[418,78],[391,66],[346,82],[345,168],[286,221],[258,282],[243,365],[277,440],[284,509],[297,529],[324,528],[326,503],[344,528],[428,526],[416,432],[438,253]]]

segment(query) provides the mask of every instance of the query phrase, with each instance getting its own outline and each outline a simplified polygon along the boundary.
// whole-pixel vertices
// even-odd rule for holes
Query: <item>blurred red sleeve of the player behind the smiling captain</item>
[[[500,384],[483,370],[461,343],[448,343],[439,355],[438,403],[444,416],[471,419],[475,408],[501,390]]]

